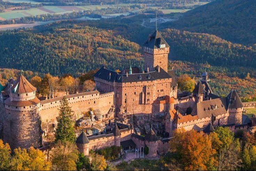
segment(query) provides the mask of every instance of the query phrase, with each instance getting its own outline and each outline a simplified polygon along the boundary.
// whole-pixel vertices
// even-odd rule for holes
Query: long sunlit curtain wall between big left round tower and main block
[[[99,109],[103,118],[106,118],[111,106],[114,104],[114,93],[100,94],[98,91],[78,93],[66,96],[69,106],[74,113],[75,119],[83,117],[83,112],[87,112],[90,108]],[[43,100],[40,102],[40,116],[43,123],[55,121],[59,115],[60,101],[62,97]],[[114,116],[113,116],[114,117]]]

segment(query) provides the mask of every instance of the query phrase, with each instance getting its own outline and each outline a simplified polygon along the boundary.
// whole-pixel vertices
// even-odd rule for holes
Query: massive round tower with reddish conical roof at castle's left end
[[[36,97],[36,87],[21,74],[8,93],[3,116],[3,141],[9,143],[11,149],[40,147],[40,100]]]

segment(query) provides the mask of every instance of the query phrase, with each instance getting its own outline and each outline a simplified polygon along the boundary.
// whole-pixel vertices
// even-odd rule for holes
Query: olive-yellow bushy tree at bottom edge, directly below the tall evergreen
[[[77,146],[69,141],[58,141],[51,151],[53,170],[76,170],[78,160]]]

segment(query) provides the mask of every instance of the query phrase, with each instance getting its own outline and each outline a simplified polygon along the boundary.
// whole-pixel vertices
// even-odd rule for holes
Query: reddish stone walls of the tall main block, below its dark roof
[[[167,110],[167,106],[159,104],[157,101],[163,100],[166,95],[171,94],[171,78],[131,83],[111,83],[99,78],[94,79],[96,87],[99,87],[100,91],[114,90],[116,108],[122,108],[125,110],[124,112],[151,114]]]

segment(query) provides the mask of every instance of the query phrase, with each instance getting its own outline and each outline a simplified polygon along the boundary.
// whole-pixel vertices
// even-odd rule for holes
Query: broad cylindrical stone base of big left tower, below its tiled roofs
[[[41,146],[40,120],[37,107],[23,111],[11,110],[11,107],[6,108],[3,141],[8,142],[11,149]]]

